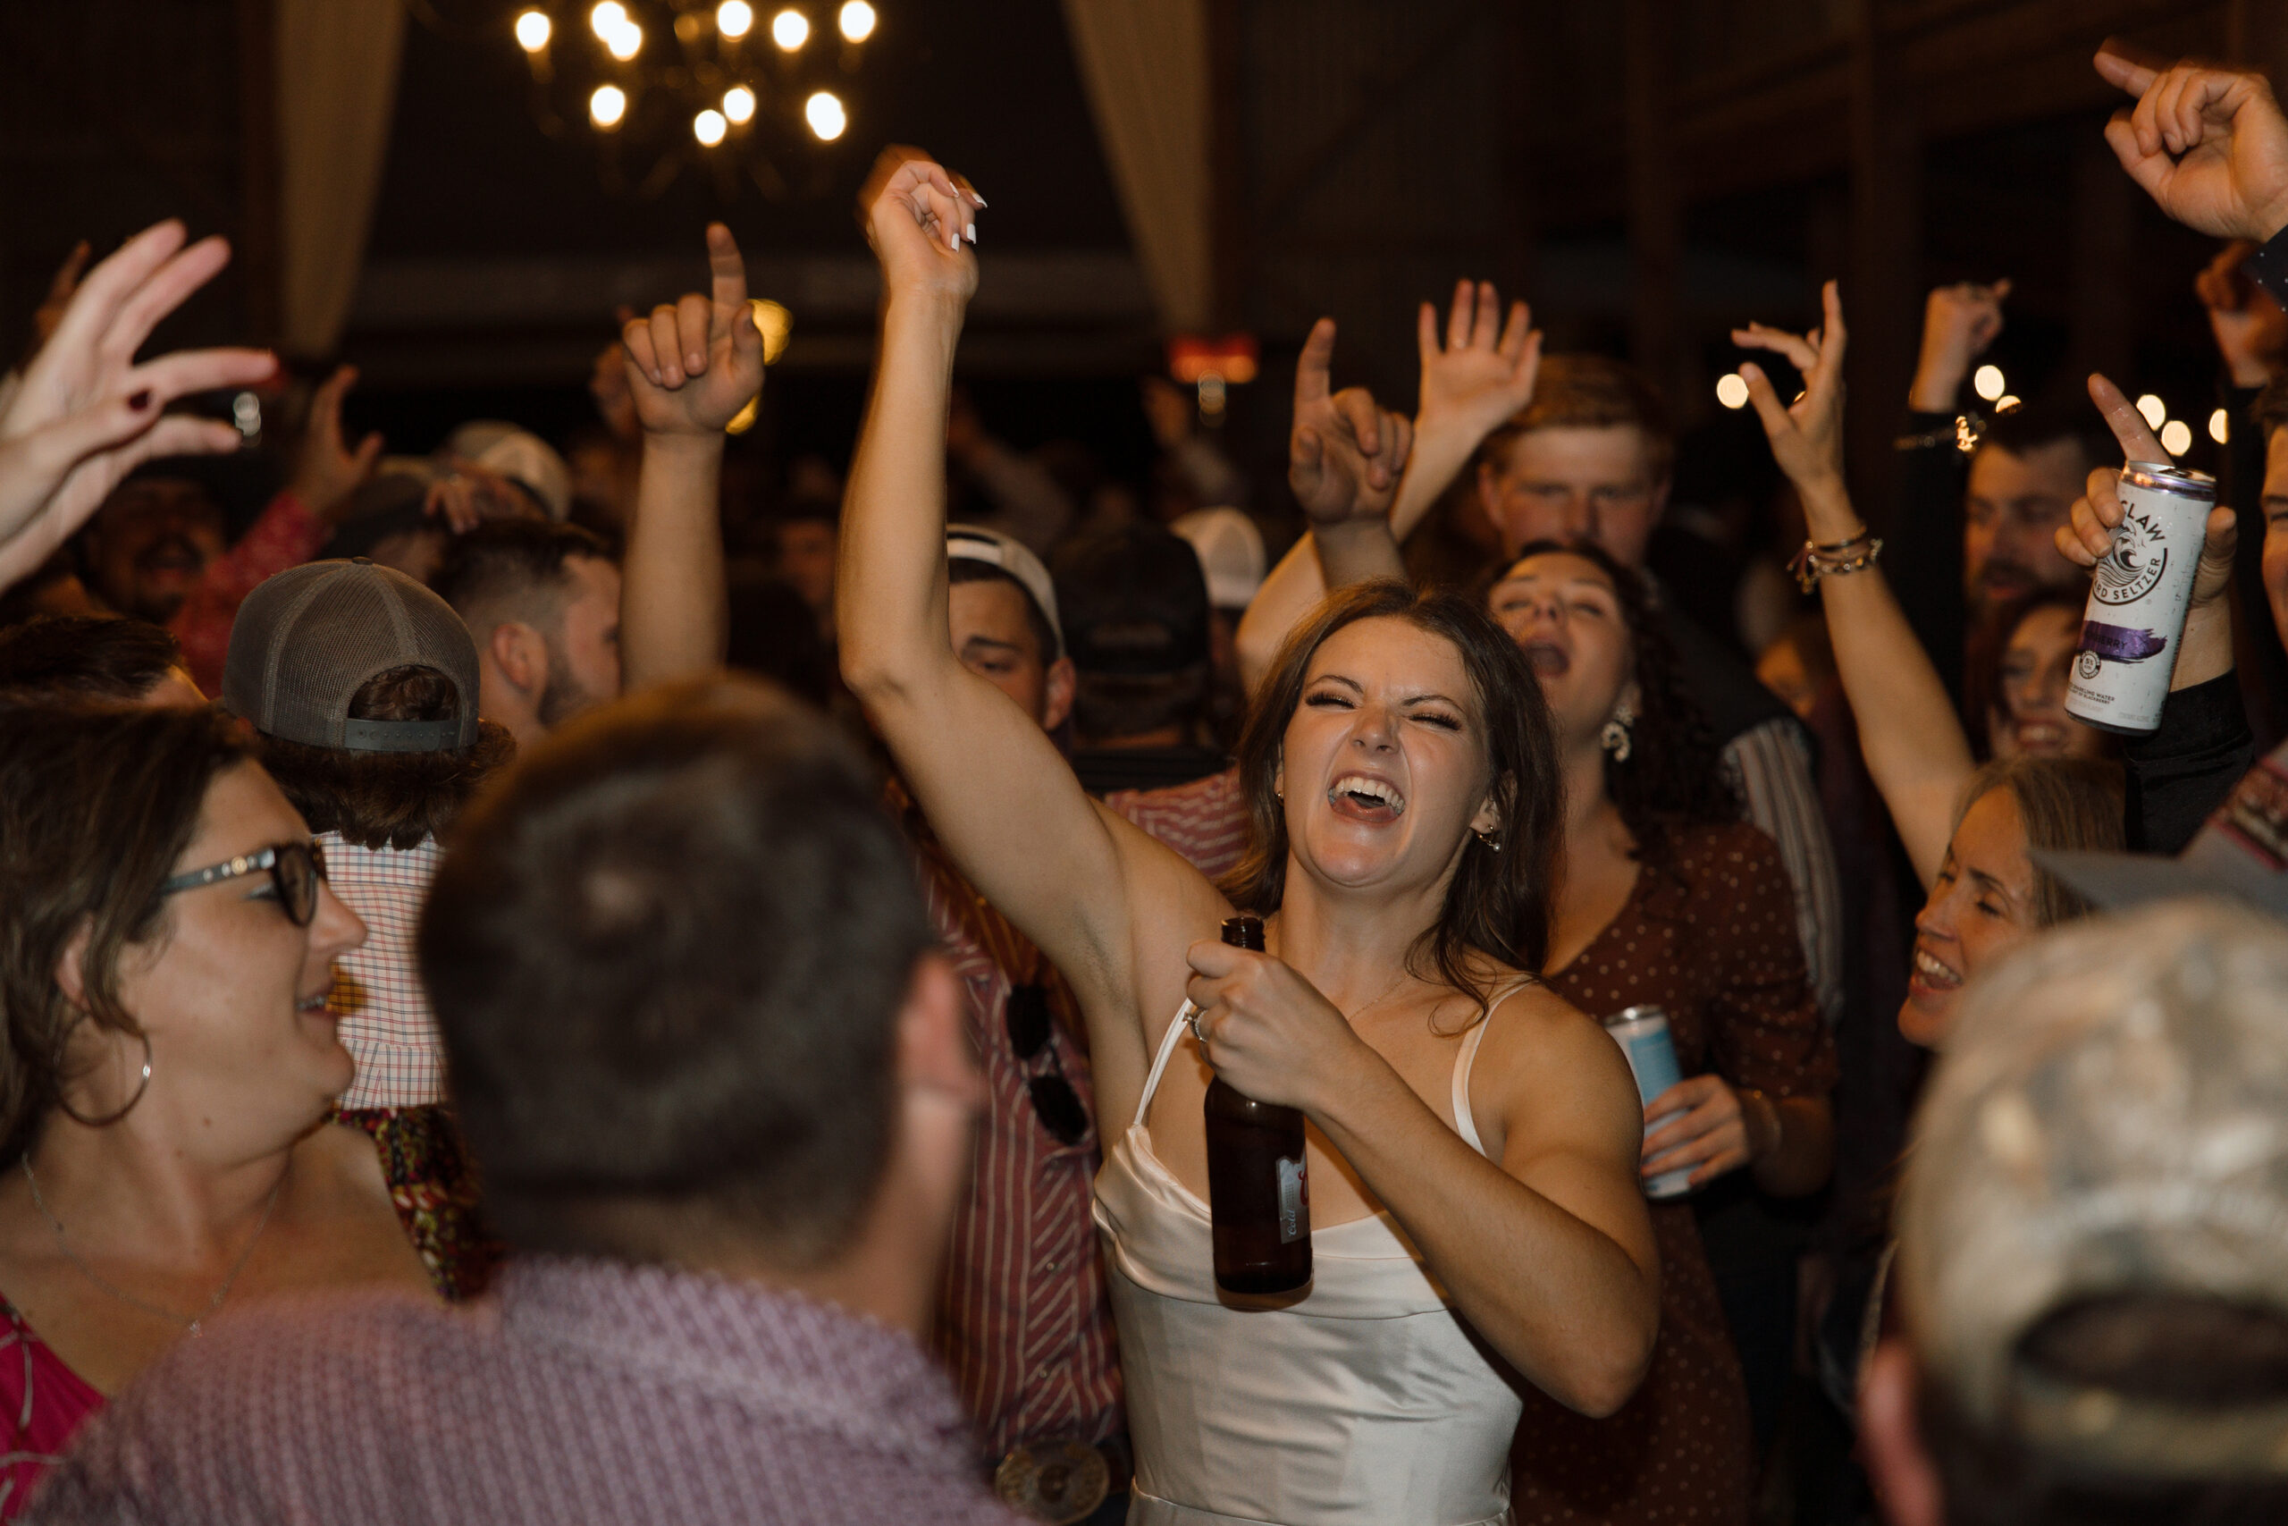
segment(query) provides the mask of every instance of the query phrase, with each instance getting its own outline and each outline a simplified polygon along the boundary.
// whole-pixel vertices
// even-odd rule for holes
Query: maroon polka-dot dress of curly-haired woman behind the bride
[[[1627,904],[1549,988],[1592,1018],[1668,1014],[1684,1075],[1716,1071],[1771,1096],[1826,1096],[1835,1043],[1805,981],[1796,897],[1780,851],[1748,824],[1670,830]],[[1620,1414],[1590,1421],[1526,1391],[1510,1453],[1519,1526],[1748,1521],[1748,1389],[1689,1199],[1652,1203],[1661,1336]]]

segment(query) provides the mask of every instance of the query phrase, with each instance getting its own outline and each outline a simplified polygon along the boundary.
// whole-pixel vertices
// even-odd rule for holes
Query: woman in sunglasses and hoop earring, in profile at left
[[[403,1153],[334,1119],[364,924],[199,709],[0,712],[0,1517],[110,1393],[286,1290],[439,1297]]]

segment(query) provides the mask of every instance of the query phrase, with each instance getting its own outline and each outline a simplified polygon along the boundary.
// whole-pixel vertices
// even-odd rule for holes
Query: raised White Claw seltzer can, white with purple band
[[[2121,526],[2089,579],[2068,716],[2107,732],[2160,728],[2215,506],[2217,478],[2203,471],[2139,460],[2121,469]]]

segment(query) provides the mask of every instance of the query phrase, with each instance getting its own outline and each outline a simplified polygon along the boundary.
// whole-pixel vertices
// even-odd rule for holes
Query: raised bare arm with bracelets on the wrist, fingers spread
[[[1780,403],[1762,366],[1739,368],[1764,421],[1771,453],[1803,499],[1810,538],[1840,545],[1867,533],[1844,490],[1844,309],[1828,281],[1826,325],[1789,334],[1764,325],[1734,329],[1734,343],[1775,350],[1803,371],[1803,396]],[[1835,670],[1842,675],[1860,750],[1915,874],[1929,885],[1954,835],[1954,801],[1972,773],[1970,739],[1922,643],[1878,567],[1819,579]]]

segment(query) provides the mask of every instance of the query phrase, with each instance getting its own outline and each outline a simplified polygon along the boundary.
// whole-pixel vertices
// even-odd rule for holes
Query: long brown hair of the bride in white
[[[1409,588],[1398,581],[1357,583],[1327,595],[1288,634],[1270,675],[1256,691],[1240,732],[1240,789],[1247,796],[1247,853],[1224,876],[1233,906],[1270,915],[1286,897],[1288,835],[1279,801],[1279,748],[1302,705],[1311,659],[1345,625],[1405,620],[1453,643],[1478,691],[1494,803],[1501,808],[1496,847],[1471,837],[1439,908],[1407,956],[1407,968],[1435,970],[1480,1004],[1489,995],[1471,954],[1540,975],[1549,956],[1549,890],[1556,874],[1560,780],[1556,739],[1542,686],[1517,643],[1492,615],[1457,593]]]

